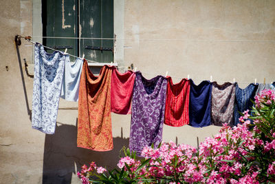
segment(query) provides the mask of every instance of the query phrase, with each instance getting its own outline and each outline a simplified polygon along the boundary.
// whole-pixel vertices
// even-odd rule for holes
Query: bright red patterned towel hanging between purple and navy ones
[[[182,79],[179,83],[173,84],[168,76],[164,124],[173,127],[189,124],[189,94],[189,80]]]

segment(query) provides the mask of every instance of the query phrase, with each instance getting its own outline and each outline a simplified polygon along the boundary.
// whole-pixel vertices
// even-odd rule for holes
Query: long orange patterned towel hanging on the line
[[[111,73],[104,65],[98,76],[83,63],[78,96],[78,147],[95,151],[113,149],[111,130]]]

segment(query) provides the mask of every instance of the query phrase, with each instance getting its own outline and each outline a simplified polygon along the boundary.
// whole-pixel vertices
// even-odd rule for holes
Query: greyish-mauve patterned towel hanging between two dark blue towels
[[[212,83],[212,124],[222,126],[223,123],[234,125],[234,100],[236,83]]]

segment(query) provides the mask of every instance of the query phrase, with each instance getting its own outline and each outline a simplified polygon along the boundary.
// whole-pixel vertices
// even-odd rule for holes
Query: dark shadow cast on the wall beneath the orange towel
[[[120,159],[120,150],[124,145],[129,145],[129,139],[117,137],[113,138],[113,150],[95,152],[77,147],[76,139],[77,127],[74,125],[56,126],[55,134],[46,134],[43,183],[71,183],[72,174],[91,161],[95,161],[98,166],[113,169]]]

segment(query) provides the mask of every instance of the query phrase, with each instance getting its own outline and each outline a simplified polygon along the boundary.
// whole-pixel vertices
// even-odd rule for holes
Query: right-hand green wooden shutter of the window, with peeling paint
[[[80,37],[113,39],[113,0],[80,0]],[[80,39],[80,55],[91,61],[110,63],[113,52],[89,50],[87,46],[113,48],[113,40]]]

